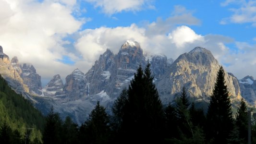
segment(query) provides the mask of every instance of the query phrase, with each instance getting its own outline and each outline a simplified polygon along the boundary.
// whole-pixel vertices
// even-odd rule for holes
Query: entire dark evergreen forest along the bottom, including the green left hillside
[[[0,144],[248,144],[249,108],[242,99],[232,113],[224,76],[220,67],[206,111],[196,107],[185,87],[163,106],[148,62],[122,90],[112,115],[97,102],[81,126],[70,117],[62,121],[53,108],[43,117],[1,77]],[[251,135],[256,144],[255,123]]]

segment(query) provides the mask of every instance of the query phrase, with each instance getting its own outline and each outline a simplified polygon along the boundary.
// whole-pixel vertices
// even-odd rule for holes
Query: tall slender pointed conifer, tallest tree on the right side
[[[226,144],[233,128],[231,102],[224,76],[221,66],[207,111],[207,139],[212,139],[215,144]]]

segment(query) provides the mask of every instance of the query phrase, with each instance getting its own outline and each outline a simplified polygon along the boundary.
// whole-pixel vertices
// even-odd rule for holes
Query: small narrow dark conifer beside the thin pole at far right
[[[235,124],[239,131],[239,138],[244,139],[244,142],[245,142],[247,140],[247,134],[248,134],[247,133],[248,132],[248,113],[247,113],[247,107],[243,98],[240,102],[240,105],[236,113]]]

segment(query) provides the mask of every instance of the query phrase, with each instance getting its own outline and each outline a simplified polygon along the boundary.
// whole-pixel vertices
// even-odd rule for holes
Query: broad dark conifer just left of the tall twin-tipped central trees
[[[97,102],[96,107],[80,128],[82,144],[107,144],[110,136],[109,117],[103,106]]]

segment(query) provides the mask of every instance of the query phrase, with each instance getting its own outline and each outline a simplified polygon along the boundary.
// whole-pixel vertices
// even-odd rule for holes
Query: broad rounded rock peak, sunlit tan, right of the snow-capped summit
[[[175,60],[170,70],[157,83],[159,95],[163,101],[170,102],[184,86],[191,97],[207,101],[211,96],[219,67],[219,62],[209,50],[194,48]],[[225,81],[231,98],[240,99],[237,79],[226,73]]]

